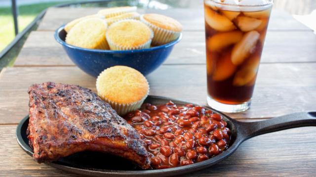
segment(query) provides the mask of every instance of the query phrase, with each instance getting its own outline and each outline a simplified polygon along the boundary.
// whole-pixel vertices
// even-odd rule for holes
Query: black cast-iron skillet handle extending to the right
[[[276,118],[271,118],[256,122],[238,122],[241,130],[242,139],[247,140],[251,137],[271,133],[275,131],[304,127],[316,126],[316,112],[294,113]]]

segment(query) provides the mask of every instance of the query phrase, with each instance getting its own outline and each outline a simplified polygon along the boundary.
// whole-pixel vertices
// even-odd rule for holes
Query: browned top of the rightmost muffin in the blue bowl
[[[182,25],[175,19],[160,14],[144,14],[143,19],[162,29],[182,31]]]

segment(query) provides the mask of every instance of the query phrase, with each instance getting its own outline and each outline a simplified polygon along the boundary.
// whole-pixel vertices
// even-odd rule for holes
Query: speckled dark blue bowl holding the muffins
[[[69,58],[80,69],[94,77],[98,77],[104,69],[115,65],[135,68],[146,76],[167,59],[173,46],[182,38],[181,33],[178,39],[165,45],[141,50],[111,51],[69,45],[65,42],[66,34],[63,25],[55,31],[54,37],[63,46]]]

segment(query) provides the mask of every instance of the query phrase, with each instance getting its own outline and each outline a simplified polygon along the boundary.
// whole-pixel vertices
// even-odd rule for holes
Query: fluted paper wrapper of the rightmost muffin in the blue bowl
[[[150,22],[144,19],[144,15],[140,16],[140,21],[145,23],[154,31],[154,38],[152,41],[153,46],[167,44],[171,41],[176,40],[181,34],[181,31],[172,31],[172,30],[162,29],[151,24]]]

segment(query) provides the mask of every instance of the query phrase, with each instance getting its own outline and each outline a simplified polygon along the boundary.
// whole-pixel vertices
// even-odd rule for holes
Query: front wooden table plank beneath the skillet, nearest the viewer
[[[33,161],[17,144],[15,128],[0,125],[0,176],[77,176]],[[219,164],[183,176],[316,176],[315,136],[314,127],[303,127],[255,137]]]

